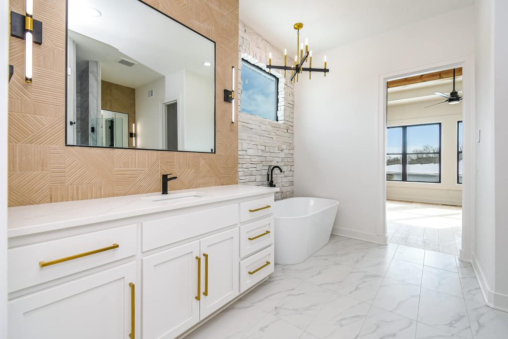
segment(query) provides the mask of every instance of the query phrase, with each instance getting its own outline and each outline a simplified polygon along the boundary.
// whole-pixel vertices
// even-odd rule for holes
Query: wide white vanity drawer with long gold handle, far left
[[[9,250],[9,292],[135,255],[136,227],[123,226]]]

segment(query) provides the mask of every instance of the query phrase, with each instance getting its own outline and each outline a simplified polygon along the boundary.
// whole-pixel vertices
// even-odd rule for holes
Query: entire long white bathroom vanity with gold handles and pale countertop
[[[171,339],[256,287],[274,268],[278,189],[201,190],[212,198],[61,205],[79,204],[85,215],[89,204],[93,216],[81,221],[70,213],[48,223],[51,212],[33,207],[46,224],[26,222],[9,234],[9,338]],[[97,204],[114,215],[97,214]],[[28,211],[30,223],[39,218]]]

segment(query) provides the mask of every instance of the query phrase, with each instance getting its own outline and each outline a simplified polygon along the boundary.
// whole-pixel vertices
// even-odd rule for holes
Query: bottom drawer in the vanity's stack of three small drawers
[[[240,261],[240,293],[270,275],[274,265],[273,246]]]

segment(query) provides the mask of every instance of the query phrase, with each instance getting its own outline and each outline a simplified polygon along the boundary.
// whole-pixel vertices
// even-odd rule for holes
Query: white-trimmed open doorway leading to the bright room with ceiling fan
[[[453,69],[456,69],[456,81],[458,81],[457,69],[459,68],[462,68],[463,72],[460,75],[462,88],[459,88],[456,83],[456,89],[462,89],[460,96],[464,99],[458,104],[444,102],[448,98],[434,94],[434,91],[437,91],[450,95],[453,90],[453,75],[435,79],[440,80],[436,82],[444,86],[442,89],[434,90],[429,84],[415,85],[412,89],[416,93],[414,96],[404,97],[403,90],[399,90],[398,94],[397,90],[389,90],[390,81],[411,77],[425,79],[431,73],[453,71]],[[474,220],[473,69],[472,56],[464,56],[379,76],[378,218],[380,222],[377,234],[387,243],[414,245],[430,251],[455,254],[462,260],[471,260]],[[409,83],[404,85],[406,88],[410,87],[407,86],[410,85]],[[409,90],[410,88],[407,88],[407,91]],[[431,91],[427,93],[429,90]],[[390,92],[395,93],[390,94]],[[438,100],[439,97],[442,97],[442,100]],[[427,103],[423,105],[424,102]],[[418,121],[415,115],[404,116],[404,112],[408,112],[408,109],[402,109],[405,104],[414,106],[419,104],[422,109],[427,110],[435,109],[437,106],[438,109],[426,113],[427,121]],[[438,112],[447,107],[444,105],[460,107],[458,114],[450,114],[454,116],[448,117],[450,121],[447,120],[446,124],[440,121],[440,118],[446,114]],[[390,117],[390,107],[397,106],[399,112],[395,112],[394,117]],[[454,122],[451,122],[453,120]],[[416,128],[415,125],[426,126],[426,129],[433,129],[434,133],[426,133],[423,127]],[[391,132],[399,132],[390,133],[400,136],[400,146],[397,150],[388,149],[393,147],[388,144],[389,127],[394,128]],[[399,130],[396,131],[395,128]],[[445,128],[446,131],[444,131]],[[425,136],[427,139],[424,138]],[[462,138],[462,142],[459,142],[459,137]],[[429,138],[434,139],[429,142]],[[415,141],[420,141],[420,144]],[[390,156],[392,159],[389,158]],[[453,170],[451,171],[450,168]],[[403,177],[405,181],[402,181]],[[387,179],[390,178],[393,181],[398,179],[398,181],[388,182]],[[439,185],[448,186],[444,188],[440,196],[434,194],[434,200],[430,199],[431,190],[436,190]],[[420,189],[420,192],[414,193],[414,188]],[[410,191],[414,191],[412,195],[409,194]],[[463,212],[460,209],[463,209]],[[427,230],[426,225],[429,225],[430,229]]]

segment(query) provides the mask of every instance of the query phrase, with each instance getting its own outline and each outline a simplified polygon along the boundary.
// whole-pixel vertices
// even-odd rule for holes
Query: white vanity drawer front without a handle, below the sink
[[[143,252],[238,224],[238,204],[142,223]]]

